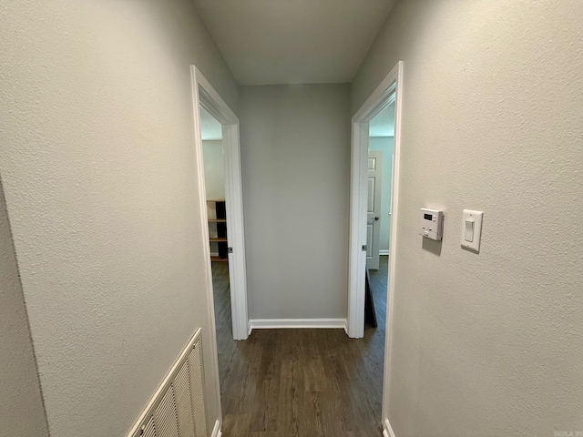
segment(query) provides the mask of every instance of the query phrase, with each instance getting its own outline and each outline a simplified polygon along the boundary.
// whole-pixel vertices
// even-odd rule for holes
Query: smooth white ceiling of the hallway
[[[240,85],[351,82],[394,0],[194,0]]]

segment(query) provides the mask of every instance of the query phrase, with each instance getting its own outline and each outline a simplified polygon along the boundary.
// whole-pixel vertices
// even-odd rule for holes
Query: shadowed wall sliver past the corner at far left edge
[[[48,436],[1,181],[0,369],[0,436]]]

